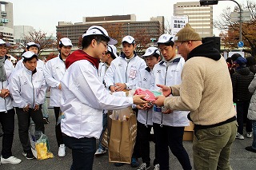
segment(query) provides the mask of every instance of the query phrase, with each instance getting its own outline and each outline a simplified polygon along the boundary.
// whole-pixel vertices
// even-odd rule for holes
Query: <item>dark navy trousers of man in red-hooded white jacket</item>
[[[96,139],[91,138],[74,138],[63,135],[64,144],[72,149],[73,163],[71,170],[91,170],[94,164],[94,153],[96,152]]]

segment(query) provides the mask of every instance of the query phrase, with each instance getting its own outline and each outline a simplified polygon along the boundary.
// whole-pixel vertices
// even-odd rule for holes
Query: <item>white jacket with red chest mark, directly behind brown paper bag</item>
[[[138,71],[146,68],[146,62],[134,53],[134,57],[127,60],[124,53],[111,62],[106,70],[104,81],[106,89],[115,83],[125,83],[126,89],[134,89],[137,83]]]

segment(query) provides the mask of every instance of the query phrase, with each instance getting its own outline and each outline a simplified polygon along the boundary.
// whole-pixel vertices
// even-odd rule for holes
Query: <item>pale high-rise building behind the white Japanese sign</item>
[[[177,2],[174,15],[186,15],[189,23],[202,38],[213,36],[213,6],[200,6],[200,2]]]

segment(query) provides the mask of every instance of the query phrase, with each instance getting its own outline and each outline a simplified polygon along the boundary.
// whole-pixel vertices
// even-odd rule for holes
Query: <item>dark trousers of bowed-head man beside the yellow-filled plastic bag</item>
[[[28,112],[24,112],[23,109],[15,108],[18,116],[18,136],[21,140],[22,148],[24,151],[30,150],[30,138],[29,138],[29,128],[30,128],[30,117],[35,124],[36,131],[45,132],[45,127],[42,121],[42,105],[40,105],[37,111],[30,109]]]

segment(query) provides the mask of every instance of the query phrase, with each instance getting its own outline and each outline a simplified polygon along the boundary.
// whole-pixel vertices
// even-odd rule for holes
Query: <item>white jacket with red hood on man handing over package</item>
[[[102,133],[102,110],[124,109],[133,104],[131,97],[114,97],[98,77],[98,59],[82,50],[66,58],[62,77],[62,132],[77,139],[99,138]],[[125,93],[123,93],[125,96]]]

